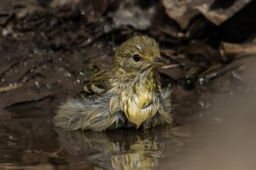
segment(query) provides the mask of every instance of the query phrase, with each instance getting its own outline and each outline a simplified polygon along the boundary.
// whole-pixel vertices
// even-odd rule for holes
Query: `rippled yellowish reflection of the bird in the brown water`
[[[87,159],[97,169],[151,169],[157,167],[165,150],[165,141],[175,140],[170,127],[148,130],[115,130],[105,132],[68,132],[56,129],[62,148],[99,150]],[[76,145],[76,147],[74,147]],[[67,147],[68,146],[68,147]],[[80,148],[80,149],[79,149]],[[84,159],[84,156],[83,156]],[[94,168],[95,168],[94,167]]]

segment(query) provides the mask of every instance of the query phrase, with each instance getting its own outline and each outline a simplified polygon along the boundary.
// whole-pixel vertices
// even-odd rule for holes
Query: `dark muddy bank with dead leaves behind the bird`
[[[162,57],[180,65],[161,71],[164,82],[193,89],[235,55],[255,53],[255,6],[250,0],[3,0],[0,107],[51,109],[79,94],[117,46],[137,34],[155,37]]]

